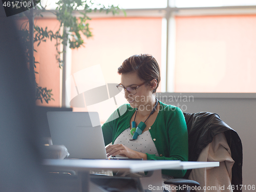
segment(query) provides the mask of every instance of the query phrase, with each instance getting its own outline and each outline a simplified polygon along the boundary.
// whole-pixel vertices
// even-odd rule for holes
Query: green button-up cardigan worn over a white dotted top
[[[160,157],[146,154],[147,160],[188,160],[187,126],[180,108],[159,101],[160,110],[150,134]],[[135,113],[130,104],[121,105],[102,125],[105,145],[114,143],[115,139],[128,127]],[[121,115],[120,115],[121,114]],[[186,170],[162,170],[162,174],[182,178]]]

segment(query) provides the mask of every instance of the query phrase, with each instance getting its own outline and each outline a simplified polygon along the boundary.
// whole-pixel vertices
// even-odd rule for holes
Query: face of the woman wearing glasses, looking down
[[[121,84],[125,88],[127,87],[137,87],[144,83],[136,72],[130,72],[126,74],[121,74]],[[132,108],[143,108],[147,103],[152,101],[152,91],[150,86],[143,84],[141,87],[136,89],[136,94],[130,94],[127,91],[124,93],[125,99],[130,103]]]

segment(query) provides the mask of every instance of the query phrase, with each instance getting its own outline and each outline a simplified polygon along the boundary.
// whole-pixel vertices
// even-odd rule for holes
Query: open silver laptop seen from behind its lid
[[[54,145],[65,145],[68,158],[108,159],[97,112],[47,112]]]

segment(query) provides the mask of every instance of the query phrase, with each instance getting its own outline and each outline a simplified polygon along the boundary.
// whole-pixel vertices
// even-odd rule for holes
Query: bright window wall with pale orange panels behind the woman
[[[52,31],[59,28],[59,20],[51,13],[55,2],[41,1],[48,11],[41,13],[44,17],[35,18],[36,25]],[[105,83],[119,83],[117,68],[122,61],[134,54],[148,53],[161,67],[157,92],[256,92],[256,1],[95,2],[119,6],[125,13],[88,13],[92,37],[81,34],[84,47],[67,47],[66,79],[99,65]],[[79,17],[80,13],[74,14]],[[75,90],[67,88],[67,96],[62,97],[62,84],[66,81],[62,80],[62,69],[55,59],[54,44],[48,40],[38,47],[37,42],[34,45],[35,60],[40,63],[35,69],[36,82],[52,89],[54,98],[49,104],[39,100],[37,104],[69,106]],[[95,71],[93,76],[96,79],[99,73]]]

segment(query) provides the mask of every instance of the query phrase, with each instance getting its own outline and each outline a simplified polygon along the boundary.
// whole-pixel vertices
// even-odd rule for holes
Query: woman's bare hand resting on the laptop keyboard
[[[131,150],[130,148],[124,146],[123,144],[114,144],[114,145],[109,145],[106,147],[106,155],[109,156],[116,156],[120,155],[123,157],[128,157],[132,159],[143,159],[146,160],[146,154],[139,153],[136,151]]]

